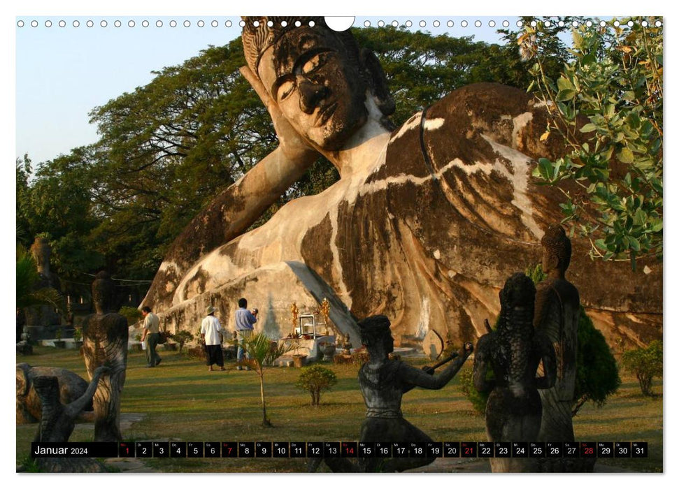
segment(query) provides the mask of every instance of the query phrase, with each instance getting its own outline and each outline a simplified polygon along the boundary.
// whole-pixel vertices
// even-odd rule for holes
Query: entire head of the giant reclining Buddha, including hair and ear
[[[243,20],[248,66],[309,143],[329,151],[341,149],[366,123],[366,96],[383,115],[394,112],[378,59],[359,49],[350,31],[330,29],[323,17]]]

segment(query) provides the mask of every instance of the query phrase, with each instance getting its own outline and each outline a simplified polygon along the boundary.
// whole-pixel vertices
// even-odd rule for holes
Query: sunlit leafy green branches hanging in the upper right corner
[[[534,176],[564,191],[564,221],[589,238],[592,257],[629,258],[634,268],[638,256],[662,256],[663,29],[631,20],[581,22],[557,79],[538,51],[550,38],[544,24],[526,27],[520,41],[535,59],[531,85],[550,110],[543,138],[559,133],[569,147],[555,161],[540,159]]]

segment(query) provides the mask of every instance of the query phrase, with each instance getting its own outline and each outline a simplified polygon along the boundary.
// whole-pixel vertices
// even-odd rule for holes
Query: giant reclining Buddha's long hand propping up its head
[[[248,66],[241,66],[241,75],[243,75],[245,80],[248,80],[250,86],[255,89],[264,106],[266,106],[266,110],[269,110],[269,115],[271,115],[271,120],[273,121],[273,129],[276,130],[276,136],[278,136],[279,147],[285,156],[292,160],[320,156],[315,149],[310,147],[304,138],[299,136],[299,133],[294,130],[290,122],[285,119],[283,112],[280,111],[262,82],[255,76],[255,73],[252,73]]]

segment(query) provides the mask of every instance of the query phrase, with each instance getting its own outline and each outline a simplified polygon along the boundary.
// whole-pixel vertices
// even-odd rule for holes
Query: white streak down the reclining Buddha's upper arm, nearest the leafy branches
[[[514,168],[514,173],[510,171],[503,165],[503,163],[498,159],[495,161],[494,168],[507,180],[514,188],[514,199],[512,204],[521,211],[521,221],[524,226],[529,228],[531,233],[539,239],[544,235],[544,231],[538,226],[533,217],[533,203],[528,196],[528,182],[531,175],[531,159],[525,154],[518,152],[516,149],[506,147],[495,143],[494,140],[488,138],[485,135],[481,135],[489,145],[494,149],[495,152],[499,153],[500,156],[508,159]]]

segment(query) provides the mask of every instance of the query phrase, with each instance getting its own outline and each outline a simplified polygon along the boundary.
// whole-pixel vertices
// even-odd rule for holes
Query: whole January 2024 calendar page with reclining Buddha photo
[[[17,472],[664,472],[664,17],[241,7],[13,18]]]

